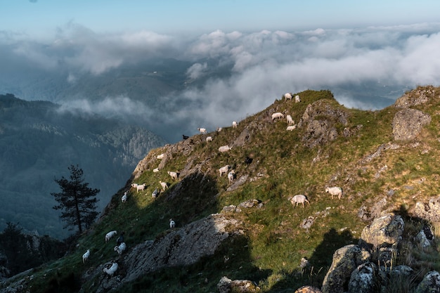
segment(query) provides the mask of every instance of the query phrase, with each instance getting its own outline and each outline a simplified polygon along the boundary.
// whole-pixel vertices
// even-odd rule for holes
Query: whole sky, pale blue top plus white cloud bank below
[[[189,86],[161,96],[160,111],[128,94],[72,97],[65,106],[148,124],[167,109],[170,124],[192,131],[230,125],[306,89],[330,89],[348,108],[376,110],[418,85],[439,86],[439,11],[439,0],[0,0],[0,93],[29,72],[62,72],[69,86],[167,58],[190,64]],[[220,67],[231,71],[217,74]],[[205,84],[193,88],[195,81]],[[29,96],[19,97],[43,99],[32,96],[32,82]],[[382,100],[346,91],[371,84],[384,89]],[[181,106],[180,98],[193,103]]]

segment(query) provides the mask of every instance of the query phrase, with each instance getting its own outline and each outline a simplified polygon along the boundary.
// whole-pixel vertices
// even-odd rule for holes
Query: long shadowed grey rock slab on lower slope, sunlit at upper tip
[[[240,221],[228,219],[223,214],[212,214],[181,229],[171,230],[160,239],[136,245],[118,260],[118,271],[111,280],[103,275],[105,265],[98,266],[88,278],[99,276],[101,286],[97,292],[107,292],[107,287],[117,288],[121,283],[134,281],[150,271],[171,266],[188,266],[202,256],[214,254],[228,237],[242,235],[244,232],[241,226]]]

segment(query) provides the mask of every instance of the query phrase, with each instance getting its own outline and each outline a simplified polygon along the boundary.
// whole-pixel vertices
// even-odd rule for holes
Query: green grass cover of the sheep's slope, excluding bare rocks
[[[362,163],[361,160],[380,145],[393,141],[392,119],[397,110],[392,107],[374,112],[346,109],[329,91],[299,94],[302,103],[275,100],[266,110],[241,121],[238,129],[227,127],[219,134],[212,134],[212,143],[203,143],[201,135],[194,136],[193,152],[188,156],[174,154],[172,162],[159,173],[145,171],[136,179],[137,183],[148,183],[145,191],[136,193],[131,190],[127,204],[121,204],[120,197],[126,190],[122,188],[112,198],[110,211],[103,221],[79,238],[72,254],[34,272],[32,287],[47,287],[51,280],[69,282],[70,272],[78,277],[79,273],[112,259],[115,256],[112,245],[103,245],[104,235],[109,230],[124,230],[125,241],[132,247],[167,233],[169,218],[176,219],[181,227],[220,212],[226,205],[237,205],[250,199],[261,200],[264,208],[243,209],[242,213],[235,214],[245,221],[246,237],[225,243],[214,256],[193,266],[151,273],[126,285],[122,292],[216,292],[216,283],[224,275],[231,279],[253,280],[263,292],[294,292],[302,285],[320,287],[335,249],[357,243],[363,227],[368,224],[357,216],[362,204],[384,197],[391,189],[395,193],[391,198],[387,197],[389,210],[410,209],[416,201],[436,196],[440,163],[433,158],[440,150],[437,141],[439,100],[415,107],[432,116],[432,123],[418,138],[419,145],[397,143],[400,148],[385,150],[379,157]],[[287,110],[298,122],[306,106],[321,99],[349,113],[349,128],[362,124],[362,129],[354,136],[344,138],[340,134],[345,126],[337,124],[337,140],[309,149],[302,142],[304,127],[285,131],[285,121],[271,123],[266,118],[270,117],[268,110],[273,108]],[[243,147],[224,154],[217,151],[220,145],[231,144],[245,126],[251,125],[250,141]],[[429,149],[427,154],[422,152],[425,149]],[[152,150],[147,157],[155,157],[163,150]],[[254,158],[250,166],[243,162],[246,156]],[[312,163],[317,156],[317,162]],[[206,177],[193,176],[191,180],[184,180],[179,196],[169,197],[167,194],[176,186],[173,183],[153,202],[150,195],[159,180],[172,182],[166,171],[181,170],[187,164],[200,167]],[[216,171],[225,164],[233,165],[238,178],[249,175],[249,178],[258,179],[248,180],[245,185],[228,192],[227,178],[220,178]],[[377,176],[385,165],[387,169]],[[420,178],[425,178],[423,184],[417,183]],[[324,192],[329,184],[342,186],[345,192],[342,200],[332,200]],[[413,188],[403,188],[406,185]],[[311,202],[304,209],[293,207],[287,200],[287,197],[300,193],[306,194]],[[315,223],[307,233],[299,225],[308,216],[313,216]],[[86,249],[91,249],[92,255],[89,265],[84,266],[81,256]],[[309,259],[312,266],[303,273],[299,268],[302,257]],[[416,256],[412,254],[411,257]],[[401,257],[399,261],[403,263],[403,259]],[[63,273],[56,276],[56,271]],[[84,284],[89,292],[93,292],[96,286],[93,281],[96,280]]]

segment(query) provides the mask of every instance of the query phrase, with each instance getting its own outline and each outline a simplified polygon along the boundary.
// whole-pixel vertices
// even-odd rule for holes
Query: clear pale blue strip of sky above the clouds
[[[94,32],[174,34],[313,30],[438,21],[440,1],[0,0],[0,30],[47,37],[75,22]]]

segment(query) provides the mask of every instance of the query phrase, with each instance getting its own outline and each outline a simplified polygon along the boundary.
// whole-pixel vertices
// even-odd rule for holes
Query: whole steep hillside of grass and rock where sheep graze
[[[436,217],[420,206],[438,197],[439,90],[418,87],[377,111],[347,109],[330,91],[308,90],[297,93],[301,103],[277,99],[236,129],[153,149],[70,253],[18,283],[32,292],[219,292],[226,276],[251,280],[260,292],[321,287],[332,254],[358,244],[365,226],[384,213],[405,219],[407,243],[427,223],[435,231]],[[292,115],[297,128],[286,131],[285,119],[271,119],[274,112]],[[232,149],[219,152],[221,145]],[[226,164],[235,169],[231,184],[219,176]],[[160,181],[169,188],[153,200]],[[131,183],[146,183],[145,190]],[[332,185],[342,187],[340,200],[325,193]],[[310,204],[293,206],[297,194]],[[124,232],[121,256],[115,238],[104,241],[110,230]],[[83,264],[86,249],[91,256]],[[119,268],[110,278],[103,268],[114,261]],[[408,244],[392,265],[411,265],[420,281],[420,272],[438,270],[438,263],[436,247],[422,253]],[[6,280],[4,287],[18,283]]]

